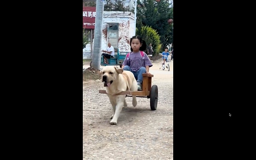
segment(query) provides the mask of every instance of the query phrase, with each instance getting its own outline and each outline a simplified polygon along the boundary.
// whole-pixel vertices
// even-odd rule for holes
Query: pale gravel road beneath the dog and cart
[[[173,159],[173,61],[171,70],[160,70],[154,61],[152,85],[158,87],[156,111],[150,99],[126,98],[117,125],[110,125],[112,106],[100,80],[83,84],[83,160],[172,160]]]

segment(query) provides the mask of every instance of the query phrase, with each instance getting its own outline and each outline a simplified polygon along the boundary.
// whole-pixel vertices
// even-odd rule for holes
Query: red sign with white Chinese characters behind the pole
[[[83,7],[83,28],[94,29],[96,7]]]

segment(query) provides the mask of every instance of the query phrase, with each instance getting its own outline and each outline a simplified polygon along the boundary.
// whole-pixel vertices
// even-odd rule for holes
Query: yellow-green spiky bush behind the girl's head
[[[152,29],[149,26],[142,26],[140,31],[136,28],[136,33],[137,33],[136,35],[142,36],[142,39],[146,42],[147,46],[148,44],[152,44],[152,48],[154,51],[153,56],[160,52],[160,49],[161,49],[160,35],[158,35],[155,29]]]

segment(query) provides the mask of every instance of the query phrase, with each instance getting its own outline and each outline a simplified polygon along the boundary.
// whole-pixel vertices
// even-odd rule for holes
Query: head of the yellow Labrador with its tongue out
[[[102,82],[104,82],[104,87],[110,87],[113,81],[118,79],[118,75],[122,74],[122,69],[117,69],[116,67],[106,66],[101,70]]]

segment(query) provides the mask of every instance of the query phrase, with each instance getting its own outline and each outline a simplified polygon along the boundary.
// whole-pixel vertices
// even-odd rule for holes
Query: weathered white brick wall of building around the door
[[[132,12],[103,12],[102,49],[106,49],[108,39],[108,23],[119,23],[118,48],[119,52],[130,51],[130,38],[134,36],[134,14]],[[94,43],[94,42],[93,42]],[[90,59],[90,44],[83,49],[83,58]]]

